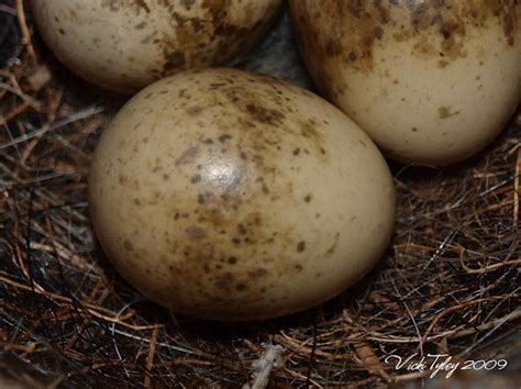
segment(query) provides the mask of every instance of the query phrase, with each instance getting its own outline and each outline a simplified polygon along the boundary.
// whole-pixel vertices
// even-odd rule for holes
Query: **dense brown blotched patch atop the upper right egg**
[[[466,55],[462,41],[468,25],[486,29],[490,23],[501,23],[509,44],[513,44],[514,32],[519,29],[514,0],[499,0],[498,4],[487,0],[293,0],[290,4],[308,58],[314,58],[310,64],[312,74],[322,88],[333,95],[334,87],[326,84],[331,77],[329,73],[334,73],[335,66],[329,64],[333,58],[343,57],[346,65],[359,71],[370,71],[375,40],[413,40],[418,54],[425,58],[443,52],[455,59]],[[323,75],[318,71],[319,60],[326,65]],[[443,64],[446,66],[448,63],[444,60]]]

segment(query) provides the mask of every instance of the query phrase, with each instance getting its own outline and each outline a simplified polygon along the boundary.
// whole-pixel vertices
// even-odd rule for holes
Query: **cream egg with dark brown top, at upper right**
[[[519,103],[517,0],[291,0],[290,9],[324,97],[390,157],[465,159]]]

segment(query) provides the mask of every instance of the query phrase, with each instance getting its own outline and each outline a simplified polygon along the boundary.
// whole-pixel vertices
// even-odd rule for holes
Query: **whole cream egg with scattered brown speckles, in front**
[[[96,149],[89,202],[131,285],[213,320],[339,294],[376,264],[395,220],[389,169],[354,122],[304,89],[225,68],[126,103]]]

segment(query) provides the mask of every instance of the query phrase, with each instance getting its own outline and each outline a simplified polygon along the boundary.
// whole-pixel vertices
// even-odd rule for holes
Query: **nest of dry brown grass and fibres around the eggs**
[[[89,159],[123,100],[56,64],[21,7],[0,4],[0,376],[22,387],[233,387],[252,382],[264,356],[273,387],[375,387],[431,373],[396,370],[391,354],[514,363],[519,119],[465,164],[391,166],[392,243],[343,296],[260,323],[176,316],[112,270],[89,223]]]

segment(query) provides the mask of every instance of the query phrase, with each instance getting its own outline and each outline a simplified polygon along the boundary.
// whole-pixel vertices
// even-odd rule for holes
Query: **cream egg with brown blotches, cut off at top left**
[[[82,78],[134,92],[252,48],[281,0],[33,0],[38,30]]]

